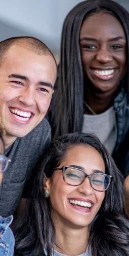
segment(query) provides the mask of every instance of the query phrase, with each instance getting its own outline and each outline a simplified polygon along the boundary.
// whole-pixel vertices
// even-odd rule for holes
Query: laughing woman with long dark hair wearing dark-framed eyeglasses
[[[95,135],[54,140],[14,226],[15,255],[129,255],[122,181]]]

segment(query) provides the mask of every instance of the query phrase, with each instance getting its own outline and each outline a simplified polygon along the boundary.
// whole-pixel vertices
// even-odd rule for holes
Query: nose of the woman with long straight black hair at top
[[[96,59],[103,64],[111,62],[112,54],[110,52],[110,49],[108,49],[107,47],[100,48],[97,52]]]

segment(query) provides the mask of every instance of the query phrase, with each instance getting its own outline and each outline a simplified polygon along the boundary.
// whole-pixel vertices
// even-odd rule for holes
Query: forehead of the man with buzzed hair
[[[7,51],[2,59],[0,72],[4,75],[20,74],[51,80],[56,79],[56,63],[52,55],[37,55],[27,48],[14,45]]]

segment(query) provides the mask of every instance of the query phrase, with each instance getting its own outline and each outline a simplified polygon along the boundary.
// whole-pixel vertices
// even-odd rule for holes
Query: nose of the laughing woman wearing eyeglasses
[[[94,189],[91,187],[89,177],[86,177],[84,182],[78,186],[78,191],[84,196],[90,196],[94,193]]]

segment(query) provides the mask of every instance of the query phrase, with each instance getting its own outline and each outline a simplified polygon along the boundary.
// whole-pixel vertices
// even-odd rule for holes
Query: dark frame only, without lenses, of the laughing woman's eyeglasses
[[[101,173],[101,172],[97,172],[97,173],[93,173],[93,174],[89,174],[89,175],[88,175],[88,174],[85,173],[83,170],[81,170],[81,169],[79,169],[79,168],[76,168],[76,167],[72,167],[72,166],[63,165],[62,167],[56,167],[56,168],[54,168],[53,171],[62,170],[63,179],[64,179],[65,183],[68,184],[68,185],[70,185],[70,186],[79,186],[79,185],[71,185],[71,184],[69,184],[69,183],[66,182],[66,180],[65,180],[65,170],[66,170],[66,168],[76,169],[76,170],[79,170],[79,171],[81,171],[81,172],[84,173],[84,179],[80,182],[79,185],[81,185],[81,184],[84,182],[85,178],[88,177],[89,180],[90,180],[90,185],[91,185],[91,187],[93,188],[93,186],[92,186],[92,181],[91,181],[91,177],[92,177],[94,174],[100,174],[100,175],[108,176],[108,177],[110,178],[109,185],[108,185],[108,187],[106,188],[106,190],[107,190],[107,189],[109,188],[109,186],[111,185],[111,182],[112,182],[112,179],[113,179],[113,176],[111,176],[111,175],[109,175],[109,174]],[[93,189],[94,189],[94,188],[93,188]],[[105,192],[105,191],[106,191],[106,190],[97,190],[97,189],[94,189],[94,190],[99,191],[99,192]]]

